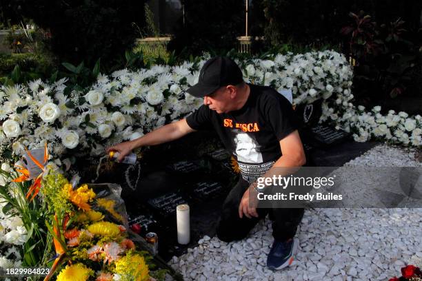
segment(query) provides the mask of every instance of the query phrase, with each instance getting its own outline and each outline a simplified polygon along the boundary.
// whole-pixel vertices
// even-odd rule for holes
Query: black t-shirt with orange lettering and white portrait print
[[[242,177],[252,183],[280,158],[281,139],[298,129],[292,105],[271,87],[249,85],[250,96],[240,110],[218,114],[202,105],[186,118],[195,130],[214,129],[237,158]]]

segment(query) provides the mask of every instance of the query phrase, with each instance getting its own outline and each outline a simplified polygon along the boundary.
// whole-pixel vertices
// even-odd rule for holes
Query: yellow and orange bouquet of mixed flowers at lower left
[[[47,280],[63,263],[58,281],[151,280],[152,256],[137,250],[123,226],[127,222],[117,204],[121,199],[105,186],[96,193],[86,184],[74,188],[57,171],[44,176],[41,195],[54,212],[48,228],[57,252]]]

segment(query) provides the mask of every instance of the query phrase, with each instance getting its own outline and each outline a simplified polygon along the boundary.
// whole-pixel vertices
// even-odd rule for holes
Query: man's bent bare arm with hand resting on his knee
[[[263,175],[264,178],[291,174],[291,171],[288,171],[288,169],[277,169],[279,167],[292,167],[294,169],[294,167],[301,167],[302,165],[305,165],[305,151],[303,150],[302,141],[297,130],[281,139],[280,148],[282,156],[274,163],[274,165],[272,165],[271,169]],[[258,217],[256,198],[257,191],[255,189],[256,185],[257,183],[252,183],[243,194],[239,205],[240,218],[243,217],[243,214],[248,218],[251,218],[252,216]],[[254,196],[255,198],[250,198],[250,196]],[[251,199],[252,204],[250,204]]]

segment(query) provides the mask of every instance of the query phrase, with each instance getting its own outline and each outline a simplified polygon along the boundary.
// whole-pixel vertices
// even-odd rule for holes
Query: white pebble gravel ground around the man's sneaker
[[[421,167],[412,149],[379,145],[345,166]],[[422,209],[305,211],[295,260],[283,271],[265,267],[270,220],[248,238],[225,243],[208,236],[170,260],[185,280],[388,280],[405,264],[422,267]]]

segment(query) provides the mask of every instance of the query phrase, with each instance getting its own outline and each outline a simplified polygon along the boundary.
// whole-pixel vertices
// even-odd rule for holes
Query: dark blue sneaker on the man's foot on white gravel
[[[278,270],[292,264],[297,244],[299,244],[297,238],[290,239],[288,242],[274,240],[270,253],[268,253],[267,267],[271,270]]]

